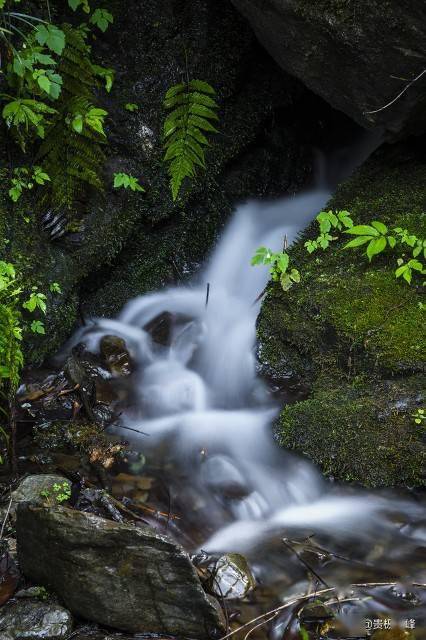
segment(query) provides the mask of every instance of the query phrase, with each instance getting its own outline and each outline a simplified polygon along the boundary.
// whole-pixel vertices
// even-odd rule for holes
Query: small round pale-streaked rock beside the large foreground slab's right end
[[[209,587],[218,598],[240,600],[256,586],[251,569],[244,556],[227,553],[209,567],[211,578]]]

